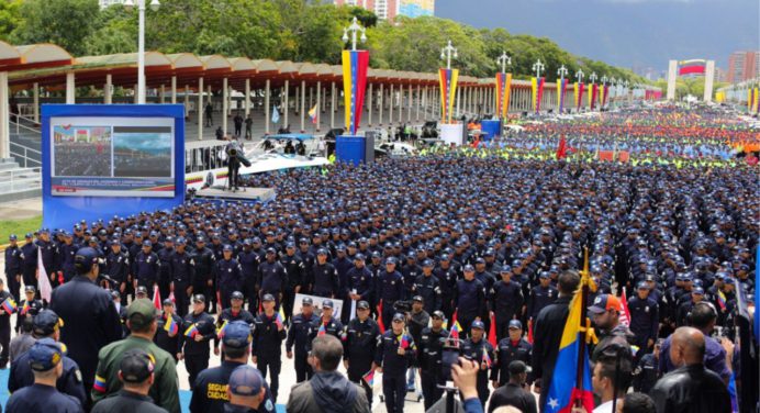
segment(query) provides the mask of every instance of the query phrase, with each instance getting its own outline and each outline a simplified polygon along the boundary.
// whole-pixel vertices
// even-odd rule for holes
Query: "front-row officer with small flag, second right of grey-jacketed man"
[[[416,358],[416,346],[405,332],[404,314],[395,313],[391,320],[391,328],[378,338],[375,364],[378,366],[377,370],[382,372],[385,411],[402,413],[406,395],[406,369]]]

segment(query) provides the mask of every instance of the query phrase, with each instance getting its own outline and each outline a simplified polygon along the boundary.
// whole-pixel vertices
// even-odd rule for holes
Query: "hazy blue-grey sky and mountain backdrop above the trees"
[[[760,49],[760,0],[437,0],[435,15],[623,67],[706,58],[727,69],[731,52]]]

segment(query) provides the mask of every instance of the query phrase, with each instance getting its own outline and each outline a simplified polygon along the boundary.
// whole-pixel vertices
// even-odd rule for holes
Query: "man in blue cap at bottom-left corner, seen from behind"
[[[79,400],[55,388],[64,371],[62,347],[52,338],[43,338],[30,348],[27,364],[33,370],[34,384],[15,391],[5,404],[5,412],[83,412]]]

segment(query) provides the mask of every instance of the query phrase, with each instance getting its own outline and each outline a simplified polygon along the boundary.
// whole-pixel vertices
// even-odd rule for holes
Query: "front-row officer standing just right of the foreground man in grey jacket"
[[[348,322],[344,341],[344,367],[348,380],[361,386],[367,391],[367,400],[372,400],[372,388],[361,378],[375,367],[375,350],[380,336],[378,323],[369,316],[369,303],[365,300],[356,304],[356,317]]]

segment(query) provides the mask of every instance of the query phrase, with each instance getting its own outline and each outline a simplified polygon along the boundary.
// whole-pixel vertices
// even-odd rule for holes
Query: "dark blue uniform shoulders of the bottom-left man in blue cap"
[[[8,399],[5,412],[80,413],[83,410],[77,399],[58,392],[52,386],[32,384],[16,391]]]

